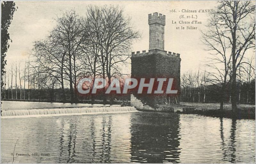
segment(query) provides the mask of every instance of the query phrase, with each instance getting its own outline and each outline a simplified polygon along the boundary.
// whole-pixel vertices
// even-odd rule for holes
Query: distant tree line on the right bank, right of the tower
[[[255,68],[247,67],[252,71],[247,74],[240,70],[239,80],[236,82],[237,103],[255,104]],[[247,69],[247,70],[249,70]],[[207,71],[187,72],[181,76],[181,102],[191,103],[231,103],[231,80],[225,87],[216,81]]]

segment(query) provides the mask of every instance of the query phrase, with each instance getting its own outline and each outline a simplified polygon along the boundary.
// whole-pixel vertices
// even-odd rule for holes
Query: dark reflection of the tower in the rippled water
[[[132,119],[132,161],[179,163],[180,116],[140,113]]]

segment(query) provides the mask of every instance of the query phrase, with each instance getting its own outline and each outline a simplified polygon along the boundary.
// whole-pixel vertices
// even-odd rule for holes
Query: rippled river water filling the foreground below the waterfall
[[[3,162],[255,163],[255,120],[156,112],[6,118]]]

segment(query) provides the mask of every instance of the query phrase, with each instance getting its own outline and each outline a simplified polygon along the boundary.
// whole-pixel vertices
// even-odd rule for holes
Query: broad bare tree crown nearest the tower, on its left
[[[139,33],[132,30],[130,18],[125,18],[119,7],[90,7],[85,22],[91,21],[90,18],[92,23],[89,25],[93,28],[93,34],[96,34],[90,40],[92,44],[97,44],[93,48],[93,55],[99,56],[102,77],[107,77],[110,85],[112,77],[122,75],[120,66],[127,63],[132,40],[139,38]]]

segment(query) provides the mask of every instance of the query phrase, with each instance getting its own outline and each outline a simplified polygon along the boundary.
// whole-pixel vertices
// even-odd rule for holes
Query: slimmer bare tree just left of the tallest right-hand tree
[[[224,36],[225,30],[221,29],[216,14],[212,15],[207,27],[208,32],[203,33],[204,44],[208,46],[211,57],[207,66],[212,72],[210,76],[213,83],[221,84],[220,91],[220,110],[223,110],[223,103],[226,95],[229,68],[231,67],[231,53],[228,52],[228,39]]]

